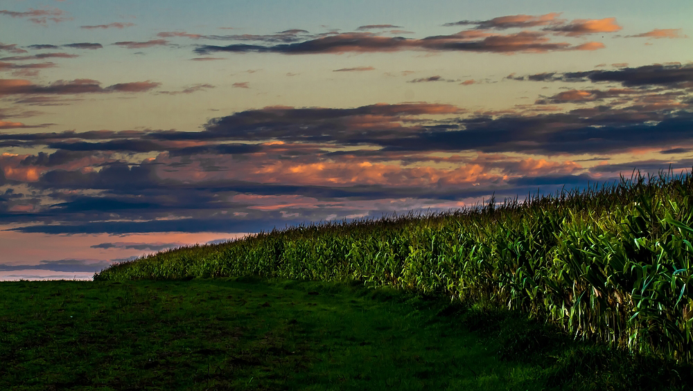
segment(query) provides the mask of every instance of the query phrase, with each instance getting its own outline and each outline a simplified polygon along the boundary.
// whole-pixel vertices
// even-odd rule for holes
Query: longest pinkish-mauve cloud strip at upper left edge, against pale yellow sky
[[[21,94],[79,94],[108,92],[143,92],[158,87],[160,83],[130,82],[101,87],[100,82],[91,79],[58,80],[49,85],[33,84],[29,80],[0,79],[0,96]]]

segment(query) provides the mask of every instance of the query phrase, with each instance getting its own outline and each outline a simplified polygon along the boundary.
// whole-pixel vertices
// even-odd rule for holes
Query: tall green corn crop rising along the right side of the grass
[[[481,208],[328,222],[117,264],[94,280],[361,280],[519,309],[634,352],[691,361],[693,177],[633,174]]]

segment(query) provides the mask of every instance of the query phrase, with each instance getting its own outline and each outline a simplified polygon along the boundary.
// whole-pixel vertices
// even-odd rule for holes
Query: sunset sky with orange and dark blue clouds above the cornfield
[[[693,2],[0,3],[0,280],[693,167]]]

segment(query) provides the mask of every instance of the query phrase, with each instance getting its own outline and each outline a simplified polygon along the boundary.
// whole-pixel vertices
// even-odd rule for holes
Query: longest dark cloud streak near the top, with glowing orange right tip
[[[541,31],[522,31],[514,34],[487,34],[475,32],[470,37],[462,32],[457,35],[437,35],[423,39],[383,37],[371,33],[342,33],[308,39],[303,42],[272,46],[231,44],[228,46],[200,45],[195,53],[208,55],[216,52],[229,53],[384,53],[395,51],[469,51],[479,53],[547,53],[550,51],[594,50],[601,44],[588,42],[572,46],[567,42],[551,42]],[[480,38],[480,39],[479,39]]]

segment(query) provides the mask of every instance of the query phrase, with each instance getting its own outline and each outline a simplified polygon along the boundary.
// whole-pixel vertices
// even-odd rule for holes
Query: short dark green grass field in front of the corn
[[[690,367],[362,284],[3,282],[0,390],[683,390]]]

